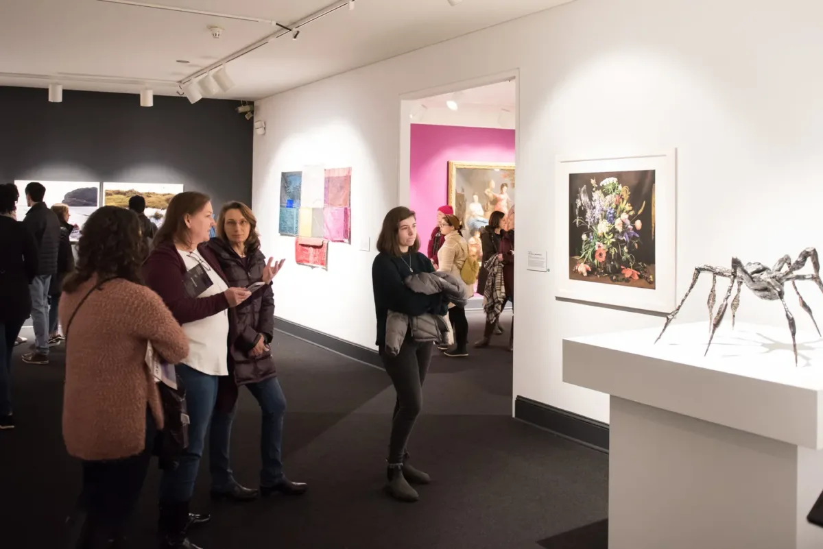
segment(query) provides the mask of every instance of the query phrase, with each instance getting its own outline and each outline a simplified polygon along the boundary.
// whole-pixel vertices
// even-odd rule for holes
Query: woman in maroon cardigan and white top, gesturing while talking
[[[188,525],[207,522],[208,515],[190,514],[189,501],[198,476],[206,433],[212,421],[219,376],[229,374],[229,309],[249,298],[244,288],[229,288],[214,252],[207,247],[214,226],[212,201],[200,192],[174,196],[143,267],[146,284],[160,294],[188,336],[188,357],[177,364],[186,389],[188,447],[174,470],[160,484],[160,547],[197,549],[186,538]],[[264,270],[263,281],[272,279]],[[257,491],[235,487],[235,499]]]

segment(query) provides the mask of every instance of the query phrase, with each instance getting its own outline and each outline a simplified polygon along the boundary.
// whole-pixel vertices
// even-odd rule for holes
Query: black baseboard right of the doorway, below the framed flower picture
[[[514,399],[514,417],[597,450],[609,450],[609,426],[576,413],[527,399]]]

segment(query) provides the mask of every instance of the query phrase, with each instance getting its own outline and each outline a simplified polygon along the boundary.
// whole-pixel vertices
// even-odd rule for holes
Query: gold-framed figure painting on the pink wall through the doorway
[[[493,211],[505,214],[514,205],[514,164],[449,161],[448,187],[449,205],[471,236]]]

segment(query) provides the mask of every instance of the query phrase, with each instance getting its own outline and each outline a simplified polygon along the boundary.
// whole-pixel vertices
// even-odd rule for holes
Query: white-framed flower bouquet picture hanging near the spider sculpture
[[[558,157],[558,298],[675,307],[675,158],[675,150]]]

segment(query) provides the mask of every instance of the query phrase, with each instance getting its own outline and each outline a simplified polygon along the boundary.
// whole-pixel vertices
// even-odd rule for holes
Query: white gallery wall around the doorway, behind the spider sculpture
[[[565,265],[525,270],[525,251],[551,259],[558,245],[555,156],[677,147],[678,298],[695,265],[732,255],[771,265],[823,248],[821,21],[818,0],[577,0],[259,102],[267,134],[254,142],[253,207],[267,251],[294,257],[294,238],[277,235],[281,171],[353,168],[351,246],[329,246],[328,272],[290,261],[277,316],[374,344],[370,269],[380,222],[398,205],[399,98],[517,70],[514,394],[607,422],[606,395],[561,381],[561,340],[663,321],[557,301]],[[365,238],[370,251],[360,251]],[[821,290],[804,284],[823,321]],[[679,321],[708,317],[709,286],[700,282]],[[738,318],[786,325],[779,303],[746,290]]]

